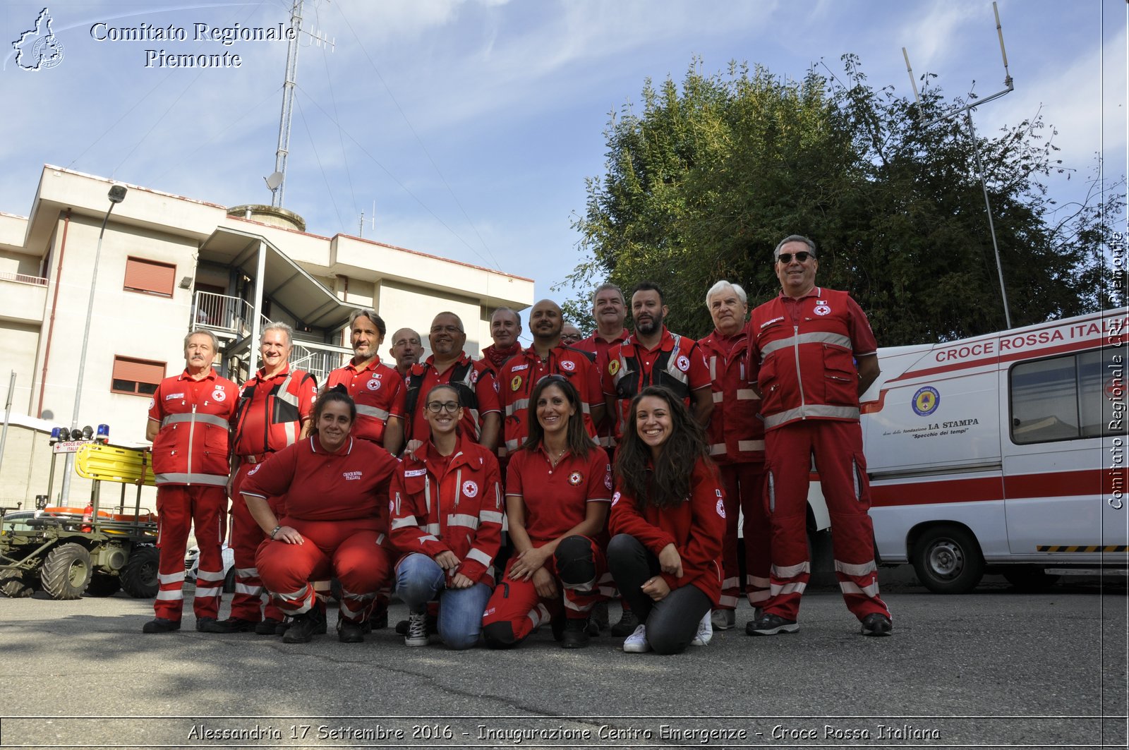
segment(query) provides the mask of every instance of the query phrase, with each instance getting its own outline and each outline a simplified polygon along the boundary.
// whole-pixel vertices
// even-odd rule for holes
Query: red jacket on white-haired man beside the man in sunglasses
[[[719,464],[763,463],[761,398],[750,386],[747,326],[736,335],[714,331],[698,342],[714,389],[714,411],[706,433],[710,457]]]

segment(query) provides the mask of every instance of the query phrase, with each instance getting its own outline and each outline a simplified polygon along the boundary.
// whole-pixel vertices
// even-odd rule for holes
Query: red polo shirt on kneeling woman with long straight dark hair
[[[584,521],[588,503],[611,503],[607,454],[596,447],[587,459],[566,453],[554,469],[543,447],[517,451],[506,472],[506,497],[511,496],[525,504],[525,531],[541,547]]]

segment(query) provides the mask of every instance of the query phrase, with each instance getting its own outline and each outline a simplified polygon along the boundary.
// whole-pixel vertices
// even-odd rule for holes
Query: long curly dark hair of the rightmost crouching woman
[[[650,446],[639,437],[636,424],[636,410],[647,396],[665,401],[671,415],[671,436],[657,459],[653,459]],[[615,452],[615,476],[640,508],[647,505],[668,508],[684,503],[690,497],[690,477],[700,459],[709,461],[706,431],[690,416],[682,399],[660,385],[649,385],[631,399],[623,439]]]

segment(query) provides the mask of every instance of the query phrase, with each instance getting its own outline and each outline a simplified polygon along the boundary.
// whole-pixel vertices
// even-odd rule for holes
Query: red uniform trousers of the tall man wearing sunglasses
[[[870,482],[863,456],[858,422],[809,419],[764,434],[769,515],[772,521],[771,598],[767,614],[795,620],[807,586],[807,487],[812,455],[820,472],[831,515],[835,577],[843,600],[859,620],[879,612],[890,617],[878,598],[874,562]]]

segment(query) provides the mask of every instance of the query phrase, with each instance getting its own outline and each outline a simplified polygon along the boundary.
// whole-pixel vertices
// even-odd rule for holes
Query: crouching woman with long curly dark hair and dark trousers
[[[721,594],[721,480],[701,427],[664,387],[631,400],[623,433],[607,562],[642,622],[623,651],[676,654]]]

